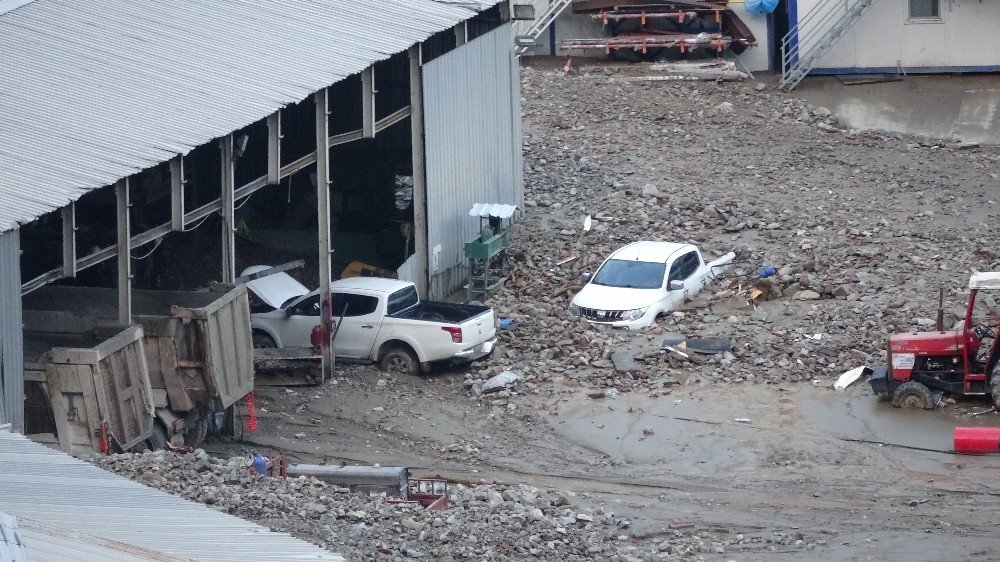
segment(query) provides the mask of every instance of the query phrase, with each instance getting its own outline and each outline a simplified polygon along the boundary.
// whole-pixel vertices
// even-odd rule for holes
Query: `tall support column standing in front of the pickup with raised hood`
[[[330,281],[330,112],[327,89],[316,92],[316,209],[319,215],[320,325],[331,326]],[[322,380],[333,377],[334,353],[329,338],[323,344]]]

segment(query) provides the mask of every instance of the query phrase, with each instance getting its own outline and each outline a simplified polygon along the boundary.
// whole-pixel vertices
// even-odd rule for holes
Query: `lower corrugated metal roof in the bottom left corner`
[[[148,560],[149,552],[233,562],[343,560],[5,431],[0,431],[0,511],[18,517],[33,561],[66,560],[73,548],[79,548],[73,560]],[[128,546],[133,548],[123,548]]]

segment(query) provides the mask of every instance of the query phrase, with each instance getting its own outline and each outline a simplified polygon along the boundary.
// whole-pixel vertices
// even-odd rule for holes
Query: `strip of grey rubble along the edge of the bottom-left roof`
[[[256,475],[248,458],[216,459],[201,449],[90,460],[148,486],[301,536],[349,560],[702,559],[734,548],[801,540],[780,533],[723,538],[690,523],[665,524],[654,533],[602,508],[582,507],[572,492],[525,485],[453,484],[448,508],[426,510],[315,478]]]

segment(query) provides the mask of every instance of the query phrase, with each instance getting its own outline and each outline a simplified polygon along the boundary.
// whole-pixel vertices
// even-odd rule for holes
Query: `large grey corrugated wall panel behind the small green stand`
[[[460,289],[473,203],[523,206],[520,71],[511,24],[424,66],[428,298]]]

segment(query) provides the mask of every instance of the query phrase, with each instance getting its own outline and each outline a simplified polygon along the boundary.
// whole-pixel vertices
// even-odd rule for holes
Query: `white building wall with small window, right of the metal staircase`
[[[799,19],[821,1],[798,0]],[[941,18],[928,21],[909,20],[905,1],[874,0],[813,72],[1000,70],[998,28],[997,2],[942,0]]]

